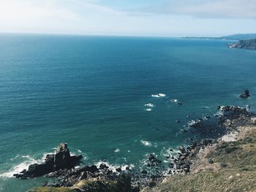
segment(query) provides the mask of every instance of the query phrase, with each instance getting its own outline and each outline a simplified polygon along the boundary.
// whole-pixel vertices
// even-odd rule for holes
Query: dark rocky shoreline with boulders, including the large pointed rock
[[[173,153],[174,149],[170,149],[170,155],[165,157],[169,162],[167,168],[164,168],[162,161],[154,154],[148,154],[146,161],[146,167],[151,172],[143,168],[130,169],[129,166],[125,170],[121,168],[113,170],[107,164],[75,168],[82,156],[71,156],[67,144],[62,143],[55,154],[47,155],[43,164],[33,164],[29,166],[28,170],[23,170],[14,176],[19,179],[42,175],[56,178],[57,180],[54,182],[42,184],[43,187],[51,188],[50,190],[68,188],[75,191],[89,191],[90,188],[94,188],[92,191],[98,189],[108,191],[109,188],[113,188],[113,191],[140,191],[147,186],[151,188],[167,176],[190,174],[193,164],[198,161],[198,155],[204,149],[217,144],[220,137],[236,131],[238,126],[248,124],[254,116],[248,109],[241,107],[217,106],[217,110],[217,115],[214,116],[217,121],[214,126],[208,126],[208,120],[211,117],[206,117],[204,120],[196,120],[189,124],[187,130],[204,134],[210,131],[211,134],[214,133],[214,137],[195,141],[189,139],[186,146],[178,147],[178,153]],[[83,185],[79,183],[83,183]]]

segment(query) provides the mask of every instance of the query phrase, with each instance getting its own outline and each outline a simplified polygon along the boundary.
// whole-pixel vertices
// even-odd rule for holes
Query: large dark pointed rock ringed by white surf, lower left
[[[55,155],[46,155],[43,164],[31,164],[28,170],[23,170],[19,174],[13,174],[13,176],[16,178],[39,177],[59,169],[71,169],[81,158],[82,155],[71,156],[67,144],[61,143]]]

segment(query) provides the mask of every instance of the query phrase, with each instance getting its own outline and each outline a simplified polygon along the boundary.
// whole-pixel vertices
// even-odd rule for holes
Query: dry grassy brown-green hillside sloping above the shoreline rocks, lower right
[[[167,177],[150,191],[256,191],[256,126],[244,126],[208,147],[192,173]]]

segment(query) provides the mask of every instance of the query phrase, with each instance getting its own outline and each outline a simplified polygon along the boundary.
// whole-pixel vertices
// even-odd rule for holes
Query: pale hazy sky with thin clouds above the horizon
[[[0,0],[0,32],[170,37],[256,33],[256,0]]]

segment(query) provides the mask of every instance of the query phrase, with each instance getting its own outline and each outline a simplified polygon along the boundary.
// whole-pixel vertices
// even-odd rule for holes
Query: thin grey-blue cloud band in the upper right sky
[[[256,0],[176,0],[159,6],[141,7],[137,11],[195,18],[256,18]]]

